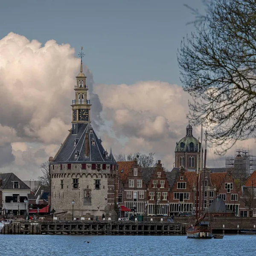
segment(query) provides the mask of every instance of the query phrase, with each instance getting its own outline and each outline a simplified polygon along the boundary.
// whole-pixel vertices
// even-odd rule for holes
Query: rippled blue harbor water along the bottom
[[[186,236],[0,235],[0,256],[151,255],[255,256],[256,235],[206,240]]]

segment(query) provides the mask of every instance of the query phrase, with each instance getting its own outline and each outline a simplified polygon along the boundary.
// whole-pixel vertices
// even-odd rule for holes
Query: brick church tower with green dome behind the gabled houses
[[[201,143],[199,143],[199,152]],[[175,147],[175,167],[183,166],[190,171],[195,171],[197,167],[198,140],[193,137],[193,128],[190,123],[186,127],[186,136]],[[199,156],[200,157],[200,156]]]

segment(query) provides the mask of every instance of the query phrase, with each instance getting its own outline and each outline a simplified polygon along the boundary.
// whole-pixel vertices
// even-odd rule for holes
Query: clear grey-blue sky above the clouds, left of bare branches
[[[55,39],[77,53],[83,45],[96,83],[181,85],[177,48],[193,30],[184,4],[203,9],[201,0],[9,0],[1,3],[0,38],[12,31],[43,44]]]

